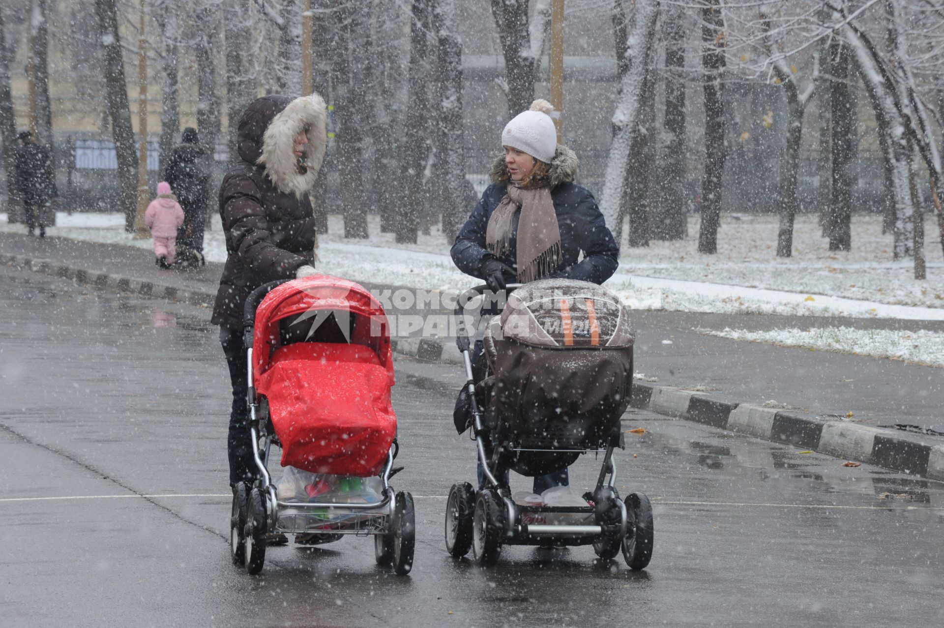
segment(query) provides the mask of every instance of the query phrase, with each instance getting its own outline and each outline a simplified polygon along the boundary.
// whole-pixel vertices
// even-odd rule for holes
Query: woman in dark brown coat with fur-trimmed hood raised
[[[262,96],[239,123],[242,159],[220,186],[220,217],[227,263],[212,322],[232,383],[229,416],[229,484],[255,476],[246,425],[246,354],[243,308],[263,283],[315,274],[314,216],[309,191],[328,146],[328,107],[318,94]]]

